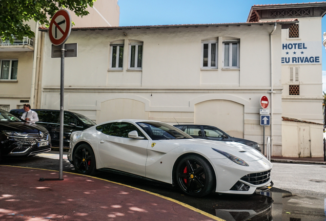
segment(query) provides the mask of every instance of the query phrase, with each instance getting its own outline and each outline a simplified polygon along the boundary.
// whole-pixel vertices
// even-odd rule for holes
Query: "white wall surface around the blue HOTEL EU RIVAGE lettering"
[[[289,50],[299,52],[292,56],[319,56],[318,63],[282,64],[282,116],[317,124],[282,122],[282,156],[321,157],[322,156],[322,65],[321,65],[321,17],[299,18],[299,38],[289,38],[288,30],[282,30],[282,44],[302,42],[308,49]],[[313,42],[316,48],[309,48]],[[303,52],[303,54],[301,54]],[[290,68],[298,68],[299,81],[290,81]],[[300,85],[300,95],[289,95],[289,85]],[[319,125],[318,125],[319,124]],[[307,132],[307,129],[309,132]],[[305,133],[303,132],[305,131]],[[294,136],[295,135],[295,136]],[[309,136],[308,136],[309,135]],[[303,148],[305,146],[305,148]]]

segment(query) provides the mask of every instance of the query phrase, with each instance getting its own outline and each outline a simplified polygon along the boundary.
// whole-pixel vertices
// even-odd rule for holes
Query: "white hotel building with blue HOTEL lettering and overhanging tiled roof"
[[[325,3],[253,6],[247,21],[297,19],[281,32],[282,156],[322,156],[321,19]]]

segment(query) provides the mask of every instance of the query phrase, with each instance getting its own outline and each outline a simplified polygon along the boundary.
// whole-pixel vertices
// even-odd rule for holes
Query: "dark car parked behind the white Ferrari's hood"
[[[184,125],[173,125],[176,128],[186,132],[193,138],[218,140],[218,141],[233,141],[251,146],[261,152],[258,143],[250,140],[244,140],[241,138],[235,138],[228,135],[226,132],[218,129],[214,126],[207,125],[196,125],[196,124],[184,124]]]

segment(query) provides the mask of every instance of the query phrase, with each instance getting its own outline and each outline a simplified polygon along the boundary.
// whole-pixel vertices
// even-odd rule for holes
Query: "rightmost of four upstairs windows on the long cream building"
[[[240,57],[240,43],[238,41],[225,41],[223,68],[225,69],[238,69]]]

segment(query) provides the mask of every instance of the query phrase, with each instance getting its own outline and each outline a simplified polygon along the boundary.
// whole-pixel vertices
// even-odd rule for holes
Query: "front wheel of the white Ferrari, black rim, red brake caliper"
[[[187,195],[201,197],[215,188],[213,169],[202,157],[189,155],[182,158],[175,174],[178,186]]]

